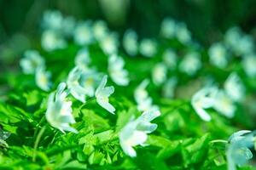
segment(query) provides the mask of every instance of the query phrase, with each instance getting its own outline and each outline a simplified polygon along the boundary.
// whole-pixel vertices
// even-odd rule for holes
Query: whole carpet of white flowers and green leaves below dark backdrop
[[[253,169],[256,56],[239,27],[201,46],[45,11],[40,42],[1,74],[0,169]]]

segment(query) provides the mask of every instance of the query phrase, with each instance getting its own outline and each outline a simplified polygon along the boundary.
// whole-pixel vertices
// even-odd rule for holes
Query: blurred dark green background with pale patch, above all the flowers
[[[11,64],[39,42],[40,21],[47,9],[77,20],[106,20],[120,34],[132,28],[140,38],[157,36],[161,21],[171,17],[185,22],[195,40],[208,46],[231,26],[256,35],[255,6],[255,0],[0,0],[0,66],[4,67],[3,61]]]

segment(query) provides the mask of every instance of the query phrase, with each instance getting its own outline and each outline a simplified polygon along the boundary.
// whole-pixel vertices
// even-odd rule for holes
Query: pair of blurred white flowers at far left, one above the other
[[[24,57],[20,59],[20,66],[25,74],[34,74],[38,88],[49,91],[51,82],[50,72],[45,71],[44,58],[36,50],[27,50]]]

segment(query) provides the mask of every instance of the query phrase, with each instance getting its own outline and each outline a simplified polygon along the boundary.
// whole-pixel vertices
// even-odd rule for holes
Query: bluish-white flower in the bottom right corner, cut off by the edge
[[[241,130],[230,136],[226,148],[229,170],[236,170],[236,165],[241,167],[253,158],[253,153],[249,148],[253,147],[254,142],[255,137],[248,130]]]

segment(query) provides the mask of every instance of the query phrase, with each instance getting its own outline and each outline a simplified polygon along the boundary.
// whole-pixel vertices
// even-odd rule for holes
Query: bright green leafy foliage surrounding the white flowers
[[[68,73],[75,66],[74,58],[81,48],[79,45],[68,39],[67,47],[63,49],[46,52],[38,47],[52,74],[53,83],[49,92],[38,88],[35,77],[22,74],[18,64],[15,71],[4,72],[0,76],[0,82],[4,82],[3,87],[0,86],[4,89],[3,96],[0,96],[0,125],[10,136],[3,141],[0,139],[0,169],[226,169],[226,143],[212,141],[228,140],[230,134],[241,128],[255,128],[253,114],[256,109],[252,105],[255,101],[255,80],[246,77],[239,59],[234,58],[224,69],[210,65],[207,49],[197,43],[183,44],[177,38],[163,38],[157,45],[158,52],[151,59],[141,54],[129,57],[120,50],[131,82],[121,87],[108,79],[108,85],[114,85],[109,103],[116,109],[115,115],[98,105],[94,97],[86,99],[84,104],[72,95],[67,97],[73,103],[75,123],[72,127],[78,133],[62,133],[50,126],[45,113],[49,108],[49,94],[55,93],[60,82],[67,81]],[[163,62],[162,55],[166,48],[177,52],[177,65],[186,54],[198,52],[201,54],[202,69],[191,77],[178,68],[168,70],[166,77],[179,79],[172,99],[162,95],[165,92],[161,86],[148,84],[147,92],[160,110],[160,116],[152,121],[158,127],[148,134],[144,144],[134,147],[136,157],[127,156],[120,145],[119,133],[128,122],[142,115],[142,111],[138,111],[134,91],[144,79],[152,79],[152,70],[155,64]],[[103,53],[99,42],[88,45],[88,50],[90,66],[108,74],[109,56]],[[236,116],[228,118],[207,108],[212,121],[202,121],[191,105],[192,95],[209,77],[223,87],[233,71],[242,77],[248,94],[245,101],[235,104]],[[63,117],[65,121],[67,117]]]

